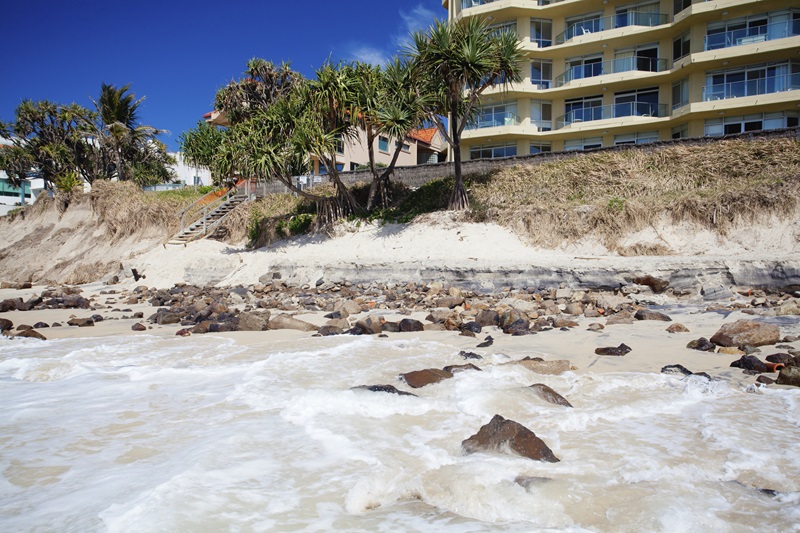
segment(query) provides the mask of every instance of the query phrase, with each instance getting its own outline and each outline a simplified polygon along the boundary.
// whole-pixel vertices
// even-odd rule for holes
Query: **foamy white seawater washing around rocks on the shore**
[[[4,531],[800,530],[800,389],[539,376],[497,355],[416,398],[350,390],[464,362],[411,336],[0,352]],[[495,414],[561,462],[462,455]]]

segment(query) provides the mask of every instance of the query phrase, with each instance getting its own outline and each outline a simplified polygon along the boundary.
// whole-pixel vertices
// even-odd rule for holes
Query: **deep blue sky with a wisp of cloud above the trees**
[[[90,107],[102,82],[131,84],[142,122],[181,132],[252,57],[306,76],[327,58],[380,62],[412,29],[446,18],[441,0],[44,0],[3,10],[0,120],[24,99]]]

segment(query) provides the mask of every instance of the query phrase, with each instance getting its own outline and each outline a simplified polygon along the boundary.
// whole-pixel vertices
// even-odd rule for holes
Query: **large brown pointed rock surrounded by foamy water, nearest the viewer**
[[[536,461],[557,463],[559,459],[547,444],[537,437],[533,431],[513,420],[506,420],[495,415],[475,435],[461,443],[465,454],[477,452],[501,452],[507,450],[522,457]]]

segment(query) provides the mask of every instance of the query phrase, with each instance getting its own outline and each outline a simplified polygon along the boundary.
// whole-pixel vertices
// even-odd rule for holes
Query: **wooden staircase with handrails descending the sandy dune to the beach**
[[[227,193],[213,191],[181,211],[181,230],[167,244],[183,244],[202,239],[214,230],[236,206],[258,196],[249,180],[241,180]],[[193,222],[187,222],[187,221]]]

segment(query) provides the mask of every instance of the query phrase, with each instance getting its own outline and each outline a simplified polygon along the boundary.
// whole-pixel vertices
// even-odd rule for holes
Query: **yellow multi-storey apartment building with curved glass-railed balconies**
[[[798,125],[797,0],[442,0],[517,34],[523,80],[485,93],[462,157]]]

